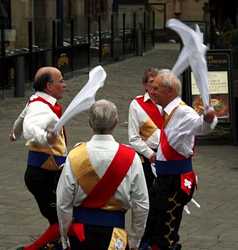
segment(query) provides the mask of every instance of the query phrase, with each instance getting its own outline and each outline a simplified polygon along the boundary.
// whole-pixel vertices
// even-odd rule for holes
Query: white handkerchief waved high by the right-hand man
[[[205,54],[207,47],[203,44],[203,33],[196,25],[196,31],[177,19],[168,20],[166,26],[176,31],[183,41],[183,49],[172,69],[179,76],[189,65],[193,71],[197,87],[202,97],[204,107],[209,106],[207,62]]]

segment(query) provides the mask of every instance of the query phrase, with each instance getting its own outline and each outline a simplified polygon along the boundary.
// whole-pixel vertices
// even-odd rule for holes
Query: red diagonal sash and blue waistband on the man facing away
[[[103,177],[93,187],[87,198],[79,207],[75,207],[73,216],[82,224],[101,225],[124,228],[123,211],[107,211],[100,209],[110,200],[127,174],[135,157],[135,151],[123,144],[119,145],[110,166]],[[82,227],[81,233],[84,235]]]

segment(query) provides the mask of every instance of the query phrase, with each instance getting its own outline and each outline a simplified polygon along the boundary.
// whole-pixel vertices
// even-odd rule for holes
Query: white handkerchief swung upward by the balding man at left
[[[97,66],[89,72],[89,80],[81,91],[71,101],[64,114],[55,124],[53,133],[59,132],[64,124],[73,116],[89,109],[95,103],[95,95],[99,88],[103,87],[106,72],[102,66]]]

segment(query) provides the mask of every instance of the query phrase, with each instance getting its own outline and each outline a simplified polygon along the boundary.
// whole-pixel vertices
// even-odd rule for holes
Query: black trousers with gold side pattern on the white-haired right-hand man
[[[150,190],[150,210],[143,240],[169,250],[179,241],[179,227],[184,206],[191,200],[180,188],[180,175],[156,178]]]

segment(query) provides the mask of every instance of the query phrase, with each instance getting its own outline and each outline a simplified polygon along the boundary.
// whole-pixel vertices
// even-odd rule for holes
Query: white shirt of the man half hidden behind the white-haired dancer
[[[144,102],[150,99],[149,94],[146,92],[144,95]],[[161,106],[157,105],[158,109],[161,110]],[[150,158],[154,151],[157,149],[160,140],[160,130],[157,129],[155,132],[144,141],[140,136],[140,127],[149,119],[148,114],[143,110],[140,104],[134,99],[129,107],[128,116],[128,137],[130,145],[140,154],[146,158]]]

